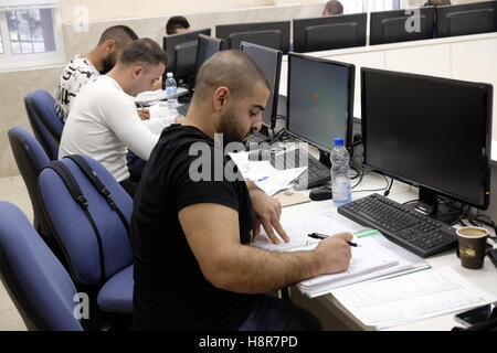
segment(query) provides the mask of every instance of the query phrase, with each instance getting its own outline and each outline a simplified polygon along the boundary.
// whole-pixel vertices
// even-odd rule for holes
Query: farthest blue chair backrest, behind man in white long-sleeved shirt
[[[44,89],[24,97],[24,105],[34,136],[51,160],[57,159],[64,124],[56,113],[55,99]]]

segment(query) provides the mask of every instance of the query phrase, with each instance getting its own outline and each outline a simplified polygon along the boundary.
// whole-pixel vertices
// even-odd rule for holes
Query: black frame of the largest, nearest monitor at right
[[[367,135],[364,133],[368,128],[368,111],[366,109],[366,92],[363,89],[364,87],[364,73],[385,73],[385,74],[395,74],[395,75],[402,75],[402,76],[415,76],[419,78],[425,78],[431,81],[437,81],[437,82],[451,82],[457,85],[467,85],[467,86],[480,86],[485,87],[487,89],[487,121],[485,124],[485,129],[487,131],[486,136],[482,139],[485,143],[485,146],[482,147],[484,150],[484,156],[482,157],[482,178],[480,180],[483,186],[483,193],[484,193],[484,201],[482,204],[475,203],[474,200],[467,200],[465,197],[461,197],[459,195],[455,195],[451,192],[443,191],[438,188],[435,188],[433,185],[427,185],[421,182],[417,182],[415,180],[409,179],[406,176],[401,176],[396,173],[387,171],[384,169],[381,169],[376,165],[370,165],[368,163],[368,149],[367,149]],[[467,81],[459,81],[459,79],[452,79],[452,78],[443,78],[443,77],[436,77],[436,76],[429,76],[429,75],[420,75],[420,74],[412,74],[412,73],[403,73],[403,72],[396,72],[396,71],[387,71],[387,69],[378,69],[378,68],[370,68],[370,67],[361,67],[361,138],[362,138],[362,146],[363,146],[363,160],[362,165],[367,168],[370,171],[373,171],[379,174],[383,174],[385,176],[399,180],[403,183],[413,185],[415,188],[419,188],[420,190],[425,189],[430,192],[434,192],[437,195],[442,195],[444,197],[448,197],[451,200],[454,200],[456,202],[463,202],[464,204],[477,207],[479,210],[486,210],[490,202],[490,160],[491,160],[491,119],[493,119],[493,86],[490,84],[485,83],[474,83],[474,82],[467,82]]]

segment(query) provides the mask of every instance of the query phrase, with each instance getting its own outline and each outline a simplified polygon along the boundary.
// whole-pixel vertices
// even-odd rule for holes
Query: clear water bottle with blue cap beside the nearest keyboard
[[[334,145],[329,159],[331,161],[332,197],[334,203],[338,206],[352,199],[349,178],[350,156],[343,146],[343,138],[334,139]]]

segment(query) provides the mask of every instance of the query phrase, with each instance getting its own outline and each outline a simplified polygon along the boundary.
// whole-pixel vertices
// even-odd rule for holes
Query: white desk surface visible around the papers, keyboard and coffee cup
[[[353,181],[352,181],[353,182]],[[370,190],[370,189],[381,189],[385,186],[385,181],[381,175],[370,173],[364,176],[362,183],[353,190],[352,199],[360,199],[370,194],[371,192],[356,192],[360,190]],[[394,182],[391,193],[389,195],[390,199],[403,203],[406,201],[411,201],[417,199],[416,189],[410,186],[408,184],[401,182]],[[320,201],[320,202],[310,202],[307,204],[295,205],[290,207],[285,207],[283,211],[282,218],[295,218],[295,217],[306,217],[313,213],[324,212],[324,211],[332,211],[336,212],[336,206],[331,201]],[[337,217],[341,217],[343,222],[351,222],[348,218],[342,217],[337,214]],[[485,265],[483,269],[479,270],[470,270],[465,269],[461,266],[461,260],[455,255],[455,249],[447,250],[445,253],[431,256],[426,259],[426,261],[432,266],[432,269],[438,269],[445,266],[452,267],[459,275],[467,278],[470,282],[476,285],[491,293],[497,293],[497,269],[488,259],[485,258]],[[432,270],[427,269],[427,270]],[[406,275],[409,276],[409,275]],[[298,289],[295,287],[292,288],[292,297],[296,303],[303,306],[304,308],[309,309],[317,317],[321,319],[324,322],[325,329],[327,328],[326,321],[329,321],[330,317],[332,317],[335,321],[334,328],[341,329],[350,329],[350,330],[374,330],[374,328],[366,327],[356,318],[353,318],[347,309],[345,309],[340,302],[338,302],[331,295],[321,296],[315,299],[308,299],[298,293]],[[326,318],[327,317],[327,318]],[[389,328],[389,331],[438,331],[438,330],[451,330],[453,327],[458,325],[454,320],[454,313],[445,314],[437,318],[426,319],[422,321],[412,322],[409,324],[403,324],[399,327]]]

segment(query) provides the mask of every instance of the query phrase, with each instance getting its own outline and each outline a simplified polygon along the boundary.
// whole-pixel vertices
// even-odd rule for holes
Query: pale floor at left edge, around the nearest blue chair
[[[20,175],[0,178],[0,201],[8,201],[21,208],[28,218],[33,218],[33,210],[24,182]],[[0,331],[25,331],[27,328],[0,282]]]

